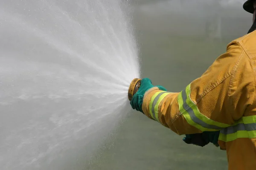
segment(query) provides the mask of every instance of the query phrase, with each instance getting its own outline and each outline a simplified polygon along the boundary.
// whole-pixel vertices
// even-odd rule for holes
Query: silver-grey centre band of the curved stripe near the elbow
[[[187,111],[189,113],[189,116],[193,120],[193,122],[201,125],[202,127],[208,128],[208,129],[216,129],[216,130],[223,129],[223,127],[218,127],[218,126],[215,126],[215,125],[209,125],[208,123],[202,121],[197,116],[195,116],[195,113],[194,113],[193,109],[190,108],[189,105],[186,103],[186,99],[187,99],[186,90],[181,92],[181,96],[182,96],[182,99],[183,99],[183,108],[185,109],[185,111]]]

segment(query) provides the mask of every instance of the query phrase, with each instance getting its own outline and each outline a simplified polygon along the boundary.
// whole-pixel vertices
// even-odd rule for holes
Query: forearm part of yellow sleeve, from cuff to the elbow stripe
[[[143,112],[150,119],[168,127],[178,135],[201,133],[201,131],[187,122],[180,112],[178,98],[181,93],[170,93],[161,90],[152,90],[145,94]]]

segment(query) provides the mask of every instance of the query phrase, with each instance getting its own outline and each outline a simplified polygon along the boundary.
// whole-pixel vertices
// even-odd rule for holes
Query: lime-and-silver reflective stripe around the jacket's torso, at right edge
[[[256,116],[244,116],[235,125],[221,130],[219,140],[224,142],[238,138],[256,138]]]

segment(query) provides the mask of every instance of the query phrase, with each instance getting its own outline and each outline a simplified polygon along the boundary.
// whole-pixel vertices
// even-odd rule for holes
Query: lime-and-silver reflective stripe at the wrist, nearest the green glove
[[[159,92],[155,93],[151,98],[150,105],[149,105],[149,113],[150,113],[151,117],[154,120],[156,120],[157,122],[159,122],[158,106],[159,106],[160,102],[163,100],[163,98],[168,94],[170,94],[170,93],[159,91]]]

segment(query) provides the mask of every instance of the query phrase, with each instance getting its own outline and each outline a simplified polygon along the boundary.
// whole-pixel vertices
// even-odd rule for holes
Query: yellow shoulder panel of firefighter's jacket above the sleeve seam
[[[230,45],[237,43],[241,46],[242,50],[248,55],[249,58],[256,57],[256,31],[253,31],[249,34],[239,37],[236,40],[233,40],[227,45],[227,49]]]

